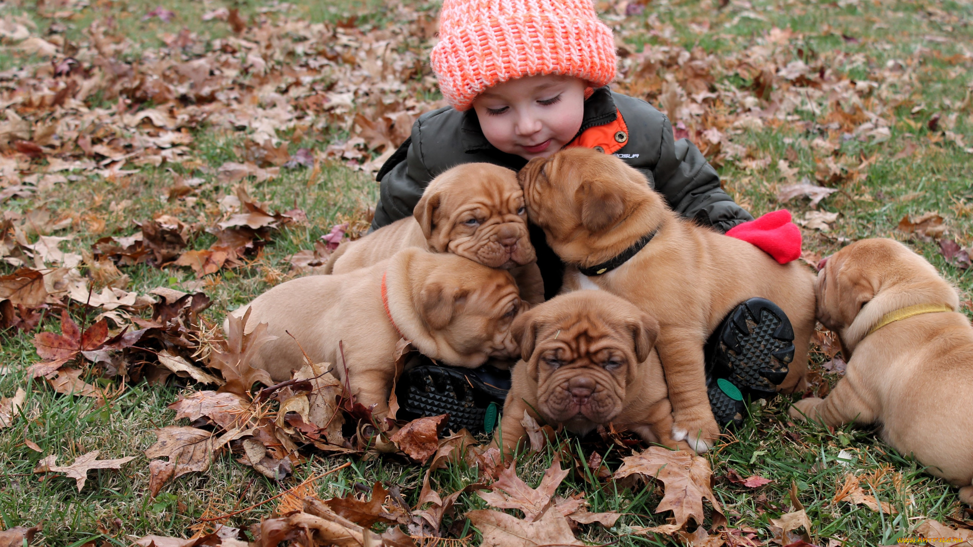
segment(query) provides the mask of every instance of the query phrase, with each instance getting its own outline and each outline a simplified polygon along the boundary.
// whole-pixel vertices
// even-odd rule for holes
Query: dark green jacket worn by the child
[[[676,141],[665,114],[644,100],[600,88],[585,101],[578,131],[617,124],[618,113],[628,127],[625,145],[614,154],[640,170],[670,207],[686,218],[726,232],[752,220],[748,212],[720,188],[716,170],[687,139]],[[526,160],[497,150],[486,140],[476,112],[451,107],[427,112],[415,121],[412,136],[378,171],[378,204],[372,229],[413,214],[422,191],[436,175],[456,164],[485,162],[520,170]],[[530,227],[537,263],[544,276],[545,296],[560,288],[563,265],[548,247],[544,233]]]

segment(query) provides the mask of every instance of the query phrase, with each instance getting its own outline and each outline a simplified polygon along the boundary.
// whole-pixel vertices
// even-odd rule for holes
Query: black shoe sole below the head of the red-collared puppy
[[[402,374],[396,387],[399,419],[450,415],[449,427],[490,432],[510,389],[510,372],[490,366],[462,369],[424,365]],[[487,423],[489,422],[489,423]]]

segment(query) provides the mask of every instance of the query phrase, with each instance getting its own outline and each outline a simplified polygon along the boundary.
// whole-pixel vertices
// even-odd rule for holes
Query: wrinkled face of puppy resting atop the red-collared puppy
[[[523,191],[516,173],[505,167],[452,167],[429,183],[413,214],[438,252],[508,270],[536,259]]]

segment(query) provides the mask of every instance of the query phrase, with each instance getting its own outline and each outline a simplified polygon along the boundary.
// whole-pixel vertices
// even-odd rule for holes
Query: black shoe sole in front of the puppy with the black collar
[[[775,397],[776,386],[787,377],[793,360],[794,329],[790,320],[783,310],[763,298],[740,304],[706,344],[707,378],[725,378],[743,395],[754,399]],[[713,396],[720,398],[717,393]],[[714,401],[713,396],[710,406],[716,415],[728,403]]]

